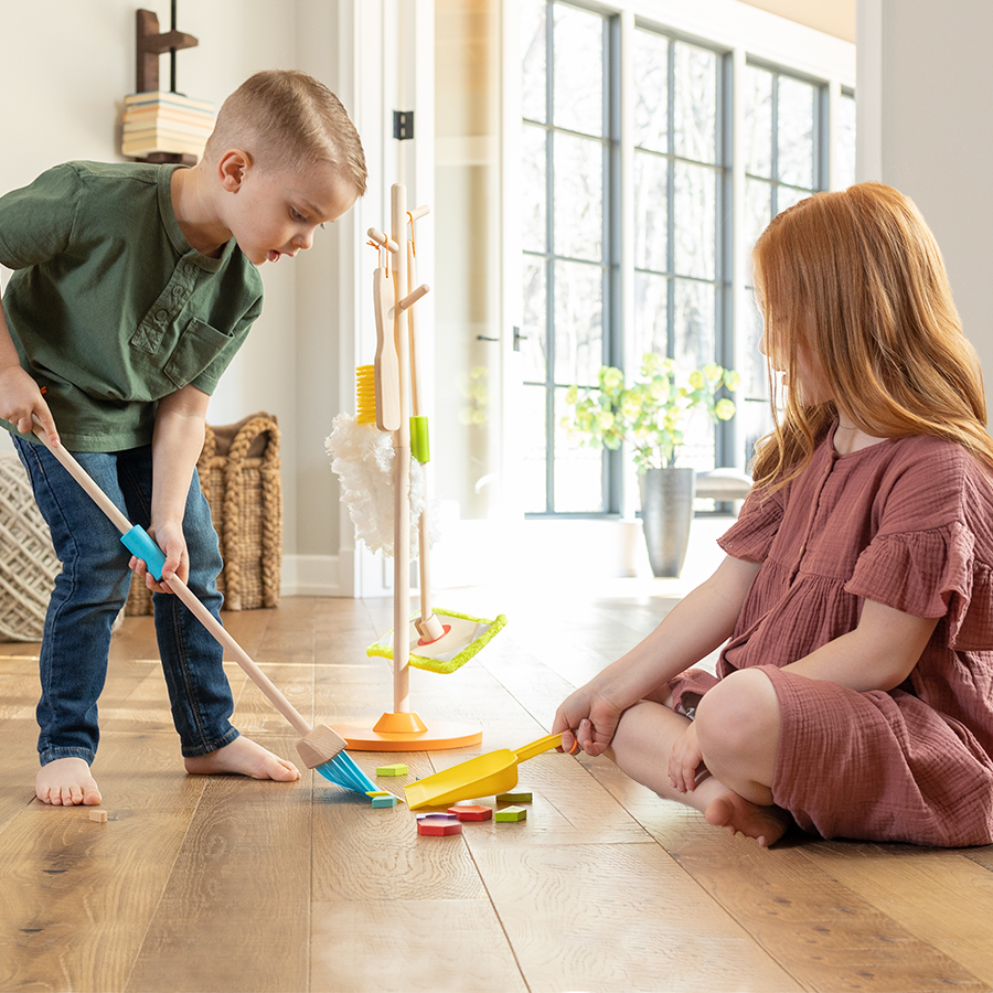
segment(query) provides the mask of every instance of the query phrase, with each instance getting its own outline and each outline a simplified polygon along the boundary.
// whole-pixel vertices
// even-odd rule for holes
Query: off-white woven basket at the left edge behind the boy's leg
[[[0,456],[0,640],[41,641],[61,568],[21,460]]]

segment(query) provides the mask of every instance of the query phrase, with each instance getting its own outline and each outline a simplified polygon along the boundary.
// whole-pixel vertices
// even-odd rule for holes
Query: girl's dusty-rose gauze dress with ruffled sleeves
[[[993,481],[959,445],[837,455],[752,493],[719,544],[761,562],[718,677],[761,665],[782,711],[772,796],[824,837],[993,842]],[[905,683],[858,693],[781,668],[853,630],[868,598],[941,618]],[[677,679],[675,703],[714,676]]]

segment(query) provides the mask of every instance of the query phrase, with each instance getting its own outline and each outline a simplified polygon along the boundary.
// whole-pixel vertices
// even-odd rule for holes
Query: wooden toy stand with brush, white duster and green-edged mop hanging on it
[[[372,728],[337,728],[349,747],[374,751],[458,748],[481,741],[482,732],[477,727],[448,722],[436,722],[428,727],[410,712],[409,668],[453,672],[506,623],[503,616],[488,620],[433,609],[430,604],[431,521],[425,470],[429,457],[428,431],[423,413],[419,335],[414,318],[414,305],[428,287],[414,286],[414,243],[413,236],[409,243],[406,236],[408,220],[413,234],[414,222],[427,212],[421,206],[407,213],[406,189],[397,183],[392,188],[392,236],[370,228],[372,244],[381,254],[385,252],[387,260],[393,260],[392,273],[388,266],[380,266],[373,277],[376,359],[372,374],[369,367],[359,371],[356,417],[335,417],[328,439],[328,449],[334,457],[332,469],[341,477],[342,499],[349,503],[356,536],[371,551],[394,557],[392,637],[367,649],[370,655],[393,660],[394,709],[383,714]],[[408,388],[412,403],[408,403]],[[373,395],[374,415],[369,409]],[[414,416],[408,419],[412,406]],[[386,433],[392,435],[392,451]],[[383,521],[391,519],[389,487],[384,484],[387,476],[393,498],[393,527],[388,537],[383,533]],[[416,535],[412,517],[418,522]],[[415,547],[420,559],[420,611],[410,619],[409,564]]]

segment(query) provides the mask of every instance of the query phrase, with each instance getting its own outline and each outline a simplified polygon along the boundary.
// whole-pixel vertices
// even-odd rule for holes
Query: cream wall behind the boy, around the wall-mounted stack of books
[[[3,0],[0,7],[0,192],[68,159],[120,161],[122,98],[136,88],[135,11],[156,11],[168,30],[170,4]],[[179,53],[178,88],[220,105],[258,70],[299,67],[351,109],[354,87],[351,76],[342,83],[348,92],[339,86],[339,63],[348,63],[352,39],[340,38],[339,19],[352,8],[332,0],[186,0],[179,4],[178,26],[200,44]],[[351,74],[354,65],[345,68]],[[168,55],[160,71],[168,87]],[[341,408],[338,348],[354,300],[348,250],[353,243],[360,244],[349,216],[319,233],[310,253],[261,267],[264,313],[209,413],[212,424],[260,409],[279,418],[290,590],[298,556],[320,556],[327,565],[339,551],[338,484],[323,438]],[[324,573],[324,585],[334,591],[333,568],[330,579]]]

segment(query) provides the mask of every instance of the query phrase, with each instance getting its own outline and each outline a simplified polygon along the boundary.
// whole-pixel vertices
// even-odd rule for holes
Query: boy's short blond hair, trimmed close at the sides
[[[265,170],[331,162],[365,193],[365,154],[341,100],[313,76],[267,70],[249,76],[222,105],[203,160],[231,148],[248,152]]]

